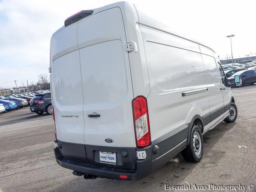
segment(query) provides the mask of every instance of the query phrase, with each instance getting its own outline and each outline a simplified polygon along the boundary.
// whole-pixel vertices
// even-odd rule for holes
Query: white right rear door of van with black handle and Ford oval
[[[120,8],[104,10],[78,21],[77,35],[85,144],[136,147],[134,96]],[[106,142],[108,138],[113,142]],[[86,147],[86,154],[91,156],[90,153],[93,152]]]

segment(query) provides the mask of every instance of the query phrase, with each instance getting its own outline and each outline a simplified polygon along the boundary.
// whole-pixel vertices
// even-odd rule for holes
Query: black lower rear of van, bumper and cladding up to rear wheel
[[[186,148],[188,127],[186,124],[144,148],[94,146],[56,140],[54,154],[60,166],[82,174],[111,179],[126,175],[128,178],[122,180],[139,180]],[[100,163],[99,151],[116,152],[116,165]],[[146,151],[146,159],[137,159],[137,151]]]

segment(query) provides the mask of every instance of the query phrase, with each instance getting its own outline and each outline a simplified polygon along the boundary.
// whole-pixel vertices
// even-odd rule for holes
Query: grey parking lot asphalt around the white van
[[[165,184],[241,184],[247,186],[245,191],[255,192],[256,85],[232,90],[238,118],[232,124],[221,122],[204,135],[204,155],[199,163],[188,163],[179,154],[179,163],[168,162],[138,181],[74,176],[55,161],[52,116],[30,113],[28,107],[0,114],[0,192],[154,192],[164,191]],[[253,190],[248,189],[250,184]]]

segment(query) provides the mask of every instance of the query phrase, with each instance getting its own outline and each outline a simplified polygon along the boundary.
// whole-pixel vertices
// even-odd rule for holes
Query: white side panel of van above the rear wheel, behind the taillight
[[[152,140],[209,114],[208,93],[182,93],[206,88],[204,65],[197,44],[140,26],[149,69],[148,110]],[[193,51],[191,51],[193,50]],[[182,143],[188,134],[172,146]],[[186,144],[186,142],[185,142]]]

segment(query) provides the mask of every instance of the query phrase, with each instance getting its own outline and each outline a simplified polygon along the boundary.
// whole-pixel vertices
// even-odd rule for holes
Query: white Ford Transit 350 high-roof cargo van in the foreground
[[[51,38],[49,72],[56,161],[73,174],[138,180],[179,152],[199,162],[202,135],[236,120],[216,53],[133,4],[64,23]]]

